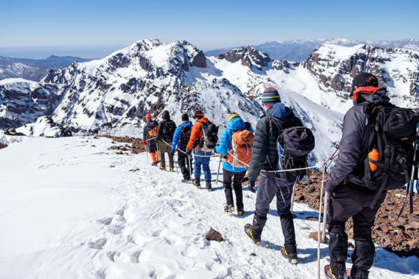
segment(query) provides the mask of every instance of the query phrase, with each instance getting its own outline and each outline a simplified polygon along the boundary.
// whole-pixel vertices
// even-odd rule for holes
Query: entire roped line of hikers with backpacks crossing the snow
[[[401,188],[412,181],[413,157],[417,157],[419,149],[419,144],[416,144],[418,114],[392,105],[387,90],[378,87],[374,75],[361,73],[356,76],[351,95],[354,106],[344,116],[339,156],[324,185],[330,196],[326,201],[330,236],[330,264],[324,270],[326,278],[368,278],[375,253],[372,241],[374,218],[387,190]],[[284,234],[281,255],[291,264],[297,264],[291,199],[295,183],[307,172],[304,167],[308,167],[307,156],[314,149],[314,135],[304,128],[290,107],[281,103],[277,89],[265,89],[261,102],[265,114],[260,117],[256,131],[240,115],[232,113],[219,144],[218,127],[200,110],[193,113],[194,124],[189,121],[188,114],[182,114],[182,123],[178,127],[170,120],[167,111],[163,112],[160,123],[147,114],[143,144],[148,146],[152,165],[159,163],[160,156],[161,169],[166,169],[164,157],[168,153],[170,171],[173,171],[173,157],[178,151],[184,183],[191,180],[194,159],[192,183],[200,187],[202,166],[207,190],[212,189],[210,157],[212,151],[219,153],[223,160],[224,211],[227,213],[235,211],[234,189],[237,215],[242,216],[242,182],[249,180],[249,190],[256,193],[258,181],[253,223],[246,224],[244,232],[254,243],[260,244],[270,203],[277,197],[277,213]],[[371,153],[376,156],[369,156]],[[300,170],[281,172],[285,169]],[[408,191],[408,195],[412,195],[411,187]],[[351,217],[355,250],[352,269],[346,269],[348,236],[345,224]]]

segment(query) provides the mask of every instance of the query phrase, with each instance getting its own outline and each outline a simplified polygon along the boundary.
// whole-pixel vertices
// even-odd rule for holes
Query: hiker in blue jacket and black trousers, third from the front
[[[177,126],[175,130],[175,135],[173,135],[172,141],[172,156],[175,155],[177,150],[177,163],[180,167],[180,172],[182,172],[183,183],[189,183],[191,180],[192,172],[192,157],[186,154],[186,145],[189,142],[192,131],[192,122],[189,121],[188,114],[182,114],[182,123]]]

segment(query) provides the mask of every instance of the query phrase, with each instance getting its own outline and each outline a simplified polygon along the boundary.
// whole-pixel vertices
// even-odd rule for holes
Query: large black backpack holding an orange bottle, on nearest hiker
[[[378,105],[372,110],[373,129],[368,150],[378,150],[379,158],[378,161],[372,160],[365,154],[364,164],[360,167],[364,186],[377,191],[371,207],[383,190],[402,188],[409,182],[418,121],[416,112],[395,105]],[[369,163],[377,166],[374,172],[369,169]]]

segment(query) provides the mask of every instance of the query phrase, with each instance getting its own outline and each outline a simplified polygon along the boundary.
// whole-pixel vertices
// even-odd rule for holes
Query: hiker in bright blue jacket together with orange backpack
[[[224,212],[234,211],[233,190],[236,197],[237,215],[244,213],[242,180],[251,159],[251,145],[253,144],[253,129],[242,120],[239,114],[228,116],[227,130],[221,135],[220,144],[215,146],[216,153],[220,153],[227,160],[223,161],[223,187],[226,193]],[[234,156],[234,157],[233,157]]]

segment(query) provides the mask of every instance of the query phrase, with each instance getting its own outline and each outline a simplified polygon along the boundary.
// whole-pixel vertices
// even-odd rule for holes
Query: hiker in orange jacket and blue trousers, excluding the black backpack
[[[191,154],[193,147],[196,146],[196,143],[199,140],[203,139],[202,123],[207,123],[207,117],[204,117],[204,113],[201,110],[196,110],[193,112],[193,118],[196,119],[196,123],[193,124],[191,137],[189,138],[188,145],[186,146],[186,153]],[[200,174],[201,174],[201,165],[203,167],[206,188],[211,190],[211,170],[210,170],[210,156],[212,151],[202,151],[199,147],[196,147],[193,151],[195,154],[195,162],[193,163],[195,180],[192,182],[196,187],[200,187]],[[207,156],[207,157],[202,157]]]

